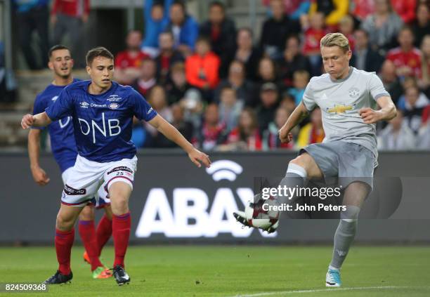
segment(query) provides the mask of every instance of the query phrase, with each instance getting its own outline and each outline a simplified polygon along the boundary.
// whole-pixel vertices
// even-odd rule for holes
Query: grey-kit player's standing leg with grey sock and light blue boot
[[[341,211],[341,220],[334,233],[333,256],[325,277],[326,286],[341,286],[340,268],[356,237],[358,214],[369,193],[370,186],[362,182],[351,183],[345,189],[343,204],[346,211]]]

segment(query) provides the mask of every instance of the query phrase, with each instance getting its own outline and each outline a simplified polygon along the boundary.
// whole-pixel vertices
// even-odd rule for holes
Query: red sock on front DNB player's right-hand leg
[[[115,261],[116,265],[124,267],[124,256],[129,246],[129,237],[131,229],[130,213],[124,213],[121,216],[112,215],[112,235],[115,246]]]

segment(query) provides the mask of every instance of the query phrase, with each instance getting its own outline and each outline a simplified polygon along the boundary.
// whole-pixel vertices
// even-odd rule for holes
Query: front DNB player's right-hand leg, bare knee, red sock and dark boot
[[[112,235],[115,246],[113,272],[117,284],[128,284],[130,277],[124,270],[124,256],[129,245],[131,217],[129,197],[131,186],[120,180],[110,184],[109,197],[112,208]]]

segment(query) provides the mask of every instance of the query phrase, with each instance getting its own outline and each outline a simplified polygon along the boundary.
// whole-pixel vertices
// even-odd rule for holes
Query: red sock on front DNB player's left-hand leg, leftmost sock
[[[74,228],[70,231],[56,229],[56,253],[58,260],[58,270],[63,275],[70,275],[70,253],[74,241]]]

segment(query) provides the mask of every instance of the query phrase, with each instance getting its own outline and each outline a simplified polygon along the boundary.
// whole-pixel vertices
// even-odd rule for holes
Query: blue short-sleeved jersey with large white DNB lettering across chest
[[[78,81],[65,87],[46,114],[53,121],[72,117],[74,138],[82,157],[102,163],[133,158],[133,116],[150,121],[157,112],[131,86],[112,81],[105,93],[92,95],[88,93],[90,84],[91,81]]]

